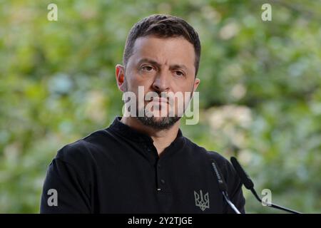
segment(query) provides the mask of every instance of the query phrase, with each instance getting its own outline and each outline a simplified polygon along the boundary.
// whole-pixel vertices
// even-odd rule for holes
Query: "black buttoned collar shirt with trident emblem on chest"
[[[120,120],[58,151],[46,174],[41,213],[233,213],[218,190],[211,158],[244,212],[242,185],[224,157],[180,130],[158,156],[148,135]]]

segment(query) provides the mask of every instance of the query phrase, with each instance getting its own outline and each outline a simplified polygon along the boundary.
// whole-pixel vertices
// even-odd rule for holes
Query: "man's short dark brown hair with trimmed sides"
[[[200,39],[198,33],[190,24],[177,16],[153,14],[138,21],[128,33],[125,50],[123,52],[123,65],[126,66],[128,58],[133,54],[133,46],[137,38],[143,36],[156,36],[170,38],[183,36],[193,44],[195,49],[195,76],[200,65]]]

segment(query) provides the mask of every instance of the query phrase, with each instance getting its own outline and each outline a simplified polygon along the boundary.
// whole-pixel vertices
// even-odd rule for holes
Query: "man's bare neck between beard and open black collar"
[[[153,139],[153,144],[157,149],[158,155],[161,155],[165,148],[175,140],[180,127],[180,121],[177,121],[169,129],[155,130],[154,128],[143,125],[137,118],[133,117],[123,117],[121,118],[121,123],[149,135]]]

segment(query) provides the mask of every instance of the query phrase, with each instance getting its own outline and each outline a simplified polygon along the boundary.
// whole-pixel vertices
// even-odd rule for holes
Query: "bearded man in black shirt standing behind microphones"
[[[223,173],[231,201],[244,212],[232,165],[183,137],[180,114],[186,107],[163,95],[188,93],[188,103],[200,83],[199,61],[198,34],[183,19],[152,15],[135,24],[116,81],[123,93],[138,96],[134,101],[143,88],[143,103],[127,105],[109,128],[58,151],[44,182],[41,212],[234,213],[218,189],[211,160]],[[154,96],[146,99],[148,93]]]

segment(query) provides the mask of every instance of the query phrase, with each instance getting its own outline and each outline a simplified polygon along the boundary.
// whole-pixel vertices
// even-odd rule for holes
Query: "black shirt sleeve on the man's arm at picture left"
[[[79,173],[70,163],[54,158],[46,173],[40,213],[91,213]]]

